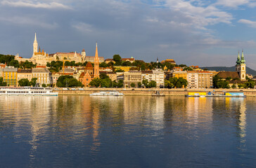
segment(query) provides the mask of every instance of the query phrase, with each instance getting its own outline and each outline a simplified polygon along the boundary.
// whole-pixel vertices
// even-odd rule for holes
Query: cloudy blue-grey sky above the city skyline
[[[0,0],[0,53],[82,52],[256,69],[256,0]]]

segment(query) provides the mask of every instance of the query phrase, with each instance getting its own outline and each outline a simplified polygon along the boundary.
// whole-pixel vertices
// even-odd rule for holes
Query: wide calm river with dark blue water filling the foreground
[[[0,97],[0,167],[256,167],[256,98]]]

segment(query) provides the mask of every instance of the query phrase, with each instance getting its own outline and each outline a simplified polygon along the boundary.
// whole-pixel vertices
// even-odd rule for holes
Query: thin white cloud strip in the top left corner
[[[31,1],[1,1],[2,5],[13,6],[13,7],[27,7],[27,8],[63,8],[72,9],[70,6],[65,6],[62,3],[51,2],[51,3],[32,3]]]

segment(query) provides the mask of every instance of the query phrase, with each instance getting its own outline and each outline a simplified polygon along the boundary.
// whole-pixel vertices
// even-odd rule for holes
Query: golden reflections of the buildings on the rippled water
[[[145,128],[152,130],[152,136],[174,132],[194,138],[196,130],[207,134],[220,122],[233,122],[241,148],[245,144],[244,98],[58,96],[0,100],[1,129],[5,125],[11,127],[16,141],[28,137],[31,162],[42,141],[65,144],[87,139],[90,150],[96,152],[101,148],[103,135],[111,134],[115,141],[124,132],[139,130],[143,134]]]

